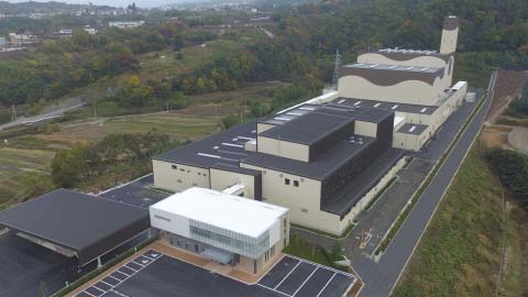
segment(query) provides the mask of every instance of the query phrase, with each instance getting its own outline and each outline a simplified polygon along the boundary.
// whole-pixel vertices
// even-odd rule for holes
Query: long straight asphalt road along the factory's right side
[[[366,258],[364,260],[370,263],[364,263],[365,265],[362,265],[364,266],[363,271],[359,271],[360,276],[365,282],[365,287],[361,292],[361,296],[382,297],[391,295],[414,250],[418,245],[422,233],[427,229],[432,215],[437,210],[441,198],[449,188],[468,151],[481,131],[492,103],[495,78],[496,73],[492,76],[488,88],[490,92],[485,98],[485,102],[476,112],[461,139],[454,145],[443,165],[424,191],[424,195],[409,213],[409,217],[399,229],[381,261],[375,264]]]

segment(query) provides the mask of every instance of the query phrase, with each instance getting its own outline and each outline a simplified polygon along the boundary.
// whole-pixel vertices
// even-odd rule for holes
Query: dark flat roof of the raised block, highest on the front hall
[[[310,145],[355,120],[380,122],[392,112],[371,108],[324,105],[261,133],[261,136]]]

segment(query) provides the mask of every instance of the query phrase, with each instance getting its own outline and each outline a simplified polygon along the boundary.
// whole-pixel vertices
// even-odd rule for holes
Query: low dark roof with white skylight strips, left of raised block
[[[256,139],[256,121],[235,125],[218,134],[207,136],[178,148],[165,152],[154,160],[210,168],[217,163],[238,165],[254,154],[244,144]]]

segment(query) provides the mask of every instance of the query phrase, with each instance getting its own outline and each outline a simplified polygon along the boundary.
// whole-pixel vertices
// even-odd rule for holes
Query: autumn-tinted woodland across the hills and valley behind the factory
[[[443,18],[450,14],[462,19],[458,48],[466,65],[475,70],[528,67],[526,1],[356,0],[283,10],[273,15],[278,23],[275,38],[249,45],[227,59],[169,81],[141,81],[136,87],[144,87],[153,98],[164,92],[155,86],[193,95],[271,79],[317,90],[331,80],[337,48],[344,62],[378,47],[436,50]],[[0,105],[54,100],[101,78],[141,72],[136,55],[167,47],[179,51],[217,37],[207,31],[189,30],[182,22],[167,22],[130,31],[105,30],[97,35],[78,31],[72,38],[45,41],[36,52],[0,61]],[[141,100],[116,99],[141,105]]]

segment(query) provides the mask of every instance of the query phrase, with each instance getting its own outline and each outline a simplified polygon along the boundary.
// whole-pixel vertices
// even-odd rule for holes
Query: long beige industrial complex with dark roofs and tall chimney
[[[153,160],[155,187],[228,190],[341,234],[463,102],[452,85],[459,20],[440,52],[385,48],[341,67],[336,91]]]

